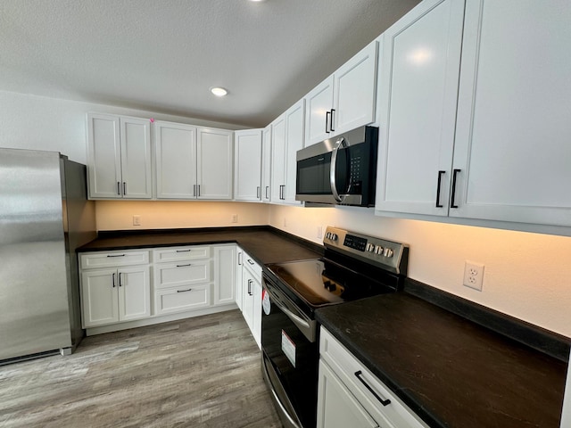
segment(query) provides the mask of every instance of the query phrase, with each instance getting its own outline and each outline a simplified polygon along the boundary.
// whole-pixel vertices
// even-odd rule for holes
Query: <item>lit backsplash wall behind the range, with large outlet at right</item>
[[[360,208],[272,205],[269,218],[315,243],[326,226],[408,243],[410,278],[571,337],[571,237],[381,218]],[[462,285],[465,260],[484,264],[482,292]]]

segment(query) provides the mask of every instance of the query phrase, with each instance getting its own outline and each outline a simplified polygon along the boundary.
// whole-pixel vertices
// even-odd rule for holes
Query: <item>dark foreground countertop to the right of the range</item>
[[[408,292],[316,311],[429,426],[559,428],[567,364]]]

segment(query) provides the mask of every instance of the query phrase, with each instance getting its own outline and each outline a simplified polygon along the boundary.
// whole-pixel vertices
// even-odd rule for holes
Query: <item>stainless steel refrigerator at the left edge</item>
[[[75,250],[95,238],[86,167],[58,152],[0,148],[0,364],[83,337]]]

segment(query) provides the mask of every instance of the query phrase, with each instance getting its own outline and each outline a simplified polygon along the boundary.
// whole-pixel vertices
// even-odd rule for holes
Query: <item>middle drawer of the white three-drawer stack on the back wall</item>
[[[154,288],[208,283],[211,280],[210,260],[161,263],[154,266]]]

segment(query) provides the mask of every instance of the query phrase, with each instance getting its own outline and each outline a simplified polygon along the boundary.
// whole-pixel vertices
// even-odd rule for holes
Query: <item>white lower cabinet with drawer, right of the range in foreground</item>
[[[318,428],[428,427],[323,327],[317,420]]]

